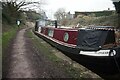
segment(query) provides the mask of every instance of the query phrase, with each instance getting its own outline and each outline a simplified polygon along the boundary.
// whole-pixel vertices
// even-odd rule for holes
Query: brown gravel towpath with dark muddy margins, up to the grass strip
[[[25,34],[27,29],[20,30],[10,45],[3,62],[3,78],[69,78],[63,69],[36,51]]]

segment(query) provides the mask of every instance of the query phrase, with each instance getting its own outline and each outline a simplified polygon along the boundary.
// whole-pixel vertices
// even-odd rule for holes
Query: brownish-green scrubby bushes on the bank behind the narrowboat
[[[77,25],[78,23],[80,26],[89,26],[89,25],[95,25],[95,26],[115,26],[117,27],[118,19],[117,14],[112,14],[110,16],[100,16],[96,17],[94,14],[92,15],[79,15],[77,18],[75,18],[73,21],[71,21],[71,25]],[[79,27],[80,27],[79,26]]]

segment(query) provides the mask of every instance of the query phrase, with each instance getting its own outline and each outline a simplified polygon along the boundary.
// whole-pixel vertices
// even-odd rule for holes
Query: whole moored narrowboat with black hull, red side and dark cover
[[[120,44],[114,27],[58,28],[36,21],[34,33],[57,49],[75,55],[82,64],[102,68],[103,73],[120,73]]]

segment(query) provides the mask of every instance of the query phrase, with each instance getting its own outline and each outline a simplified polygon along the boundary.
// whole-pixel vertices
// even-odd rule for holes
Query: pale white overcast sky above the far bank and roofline
[[[66,12],[74,11],[103,11],[110,8],[115,10],[111,0],[45,0],[42,9],[46,12],[48,18],[54,19],[54,13],[59,8],[64,8]]]

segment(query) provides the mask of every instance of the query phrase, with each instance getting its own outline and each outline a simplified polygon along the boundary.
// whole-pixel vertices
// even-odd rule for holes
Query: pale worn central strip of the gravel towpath
[[[12,46],[12,63],[11,69],[8,74],[9,77],[18,77],[18,78],[27,78],[33,77],[34,74],[29,67],[28,58],[26,57],[26,47],[25,47],[25,38],[24,38],[25,29],[19,31],[17,34],[16,40]]]

